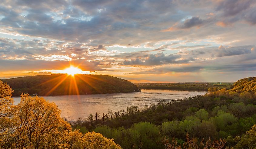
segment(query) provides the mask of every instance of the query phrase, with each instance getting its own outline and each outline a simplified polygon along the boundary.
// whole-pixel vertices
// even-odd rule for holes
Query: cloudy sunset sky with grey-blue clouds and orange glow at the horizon
[[[1,0],[0,79],[59,73],[143,82],[256,76],[255,0]]]

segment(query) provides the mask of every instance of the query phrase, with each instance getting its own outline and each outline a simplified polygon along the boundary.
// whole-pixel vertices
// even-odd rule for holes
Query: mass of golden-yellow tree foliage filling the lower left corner
[[[0,81],[0,149],[121,149],[99,133],[72,131],[61,111],[42,97],[21,95],[12,105],[12,89]]]

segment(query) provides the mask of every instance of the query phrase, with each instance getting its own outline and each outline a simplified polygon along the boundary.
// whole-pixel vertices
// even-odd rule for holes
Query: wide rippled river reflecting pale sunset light
[[[49,102],[55,102],[62,111],[61,116],[67,121],[75,121],[78,117],[86,118],[90,113],[96,112],[103,115],[108,109],[113,112],[127,109],[129,106],[143,108],[148,104],[157,104],[159,101],[193,97],[204,95],[203,91],[176,91],[176,90],[155,90],[142,89],[141,92],[118,93],[118,94],[97,94],[97,95],[69,95],[69,96],[44,96]],[[20,102],[19,97],[14,97],[14,104]]]

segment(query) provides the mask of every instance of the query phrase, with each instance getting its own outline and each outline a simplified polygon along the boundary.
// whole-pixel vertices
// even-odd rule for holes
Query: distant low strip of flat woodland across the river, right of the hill
[[[227,82],[185,82],[185,83],[136,83],[140,89],[172,89],[217,91],[223,88],[231,89],[233,83]]]

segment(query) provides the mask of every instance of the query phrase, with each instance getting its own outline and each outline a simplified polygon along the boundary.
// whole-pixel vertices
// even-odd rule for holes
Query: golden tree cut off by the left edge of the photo
[[[3,83],[0,80],[0,137],[7,133],[8,127],[10,126],[10,107],[13,104],[13,100],[11,98],[12,93],[12,88],[7,83]]]

